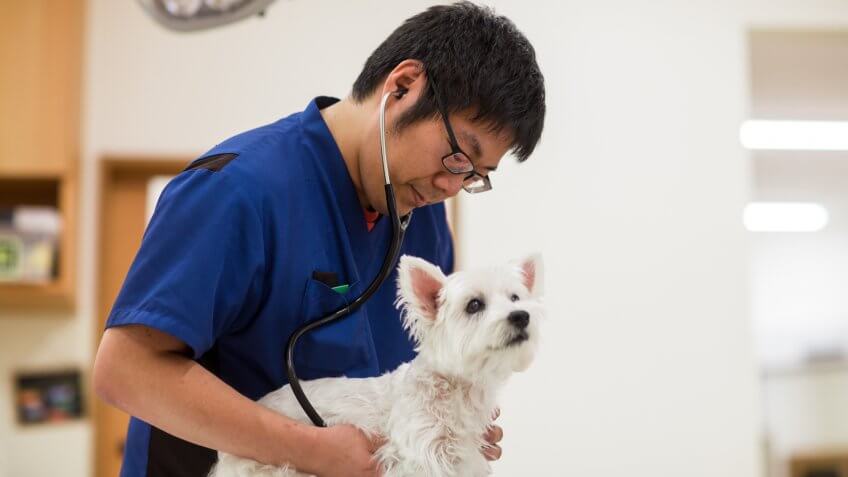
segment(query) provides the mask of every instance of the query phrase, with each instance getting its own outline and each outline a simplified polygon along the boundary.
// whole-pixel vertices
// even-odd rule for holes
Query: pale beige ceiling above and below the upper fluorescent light
[[[848,30],[756,30],[748,38],[752,118],[848,121]],[[848,151],[752,157],[759,200],[848,203]]]

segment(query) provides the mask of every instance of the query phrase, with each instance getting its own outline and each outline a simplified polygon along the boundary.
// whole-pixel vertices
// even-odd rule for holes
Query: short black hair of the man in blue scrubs
[[[471,110],[473,121],[506,131],[519,162],[539,142],[545,122],[545,83],[533,46],[515,24],[471,2],[428,8],[407,19],[365,62],[352,98],[370,97],[402,61],[424,64],[448,113]],[[428,81],[424,94],[396,123],[399,129],[436,118]]]

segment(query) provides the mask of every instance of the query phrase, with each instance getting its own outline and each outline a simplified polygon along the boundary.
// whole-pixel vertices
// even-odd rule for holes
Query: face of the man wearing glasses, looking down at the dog
[[[457,195],[468,174],[452,174],[442,164],[442,158],[451,153],[442,118],[417,121],[397,132],[393,126],[395,120],[414,99],[389,101],[405,103],[386,113],[387,159],[398,213],[406,215],[417,207]],[[474,170],[483,176],[491,174],[510,148],[509,137],[503,132],[489,131],[486,124],[472,122],[467,113],[451,114],[449,120],[459,147],[471,159]],[[362,149],[360,173],[366,199],[378,212],[387,214],[379,134],[379,121],[375,120]]]

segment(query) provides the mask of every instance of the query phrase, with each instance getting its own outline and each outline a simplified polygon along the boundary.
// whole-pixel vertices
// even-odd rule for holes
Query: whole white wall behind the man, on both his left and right
[[[134,2],[91,0],[80,306],[67,321],[0,320],[34,347],[11,359],[91,357],[101,157],[193,155],[314,95],[343,95],[378,42],[428,3],[280,1],[264,20],[180,35]],[[759,475],[739,226],[748,169],[735,141],[753,13],[740,4],[496,2],[537,47],[550,113],[536,157],[463,201],[461,246],[468,265],[543,250],[552,308],[542,356],[504,397],[498,475]],[[45,341],[52,353],[31,351]],[[87,427],[45,431],[74,435],[63,455],[33,459],[48,436],[0,425],[0,448],[14,450],[0,451],[0,475],[90,473]]]

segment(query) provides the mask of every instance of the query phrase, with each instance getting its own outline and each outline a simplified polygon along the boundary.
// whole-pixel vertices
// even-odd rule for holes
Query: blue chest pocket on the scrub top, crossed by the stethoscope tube
[[[351,291],[340,294],[310,279],[300,307],[302,323],[326,316],[356,296]],[[376,369],[372,348],[371,328],[364,309],[359,308],[355,313],[301,336],[295,350],[298,376],[303,379],[370,376],[373,374],[371,368]]]

